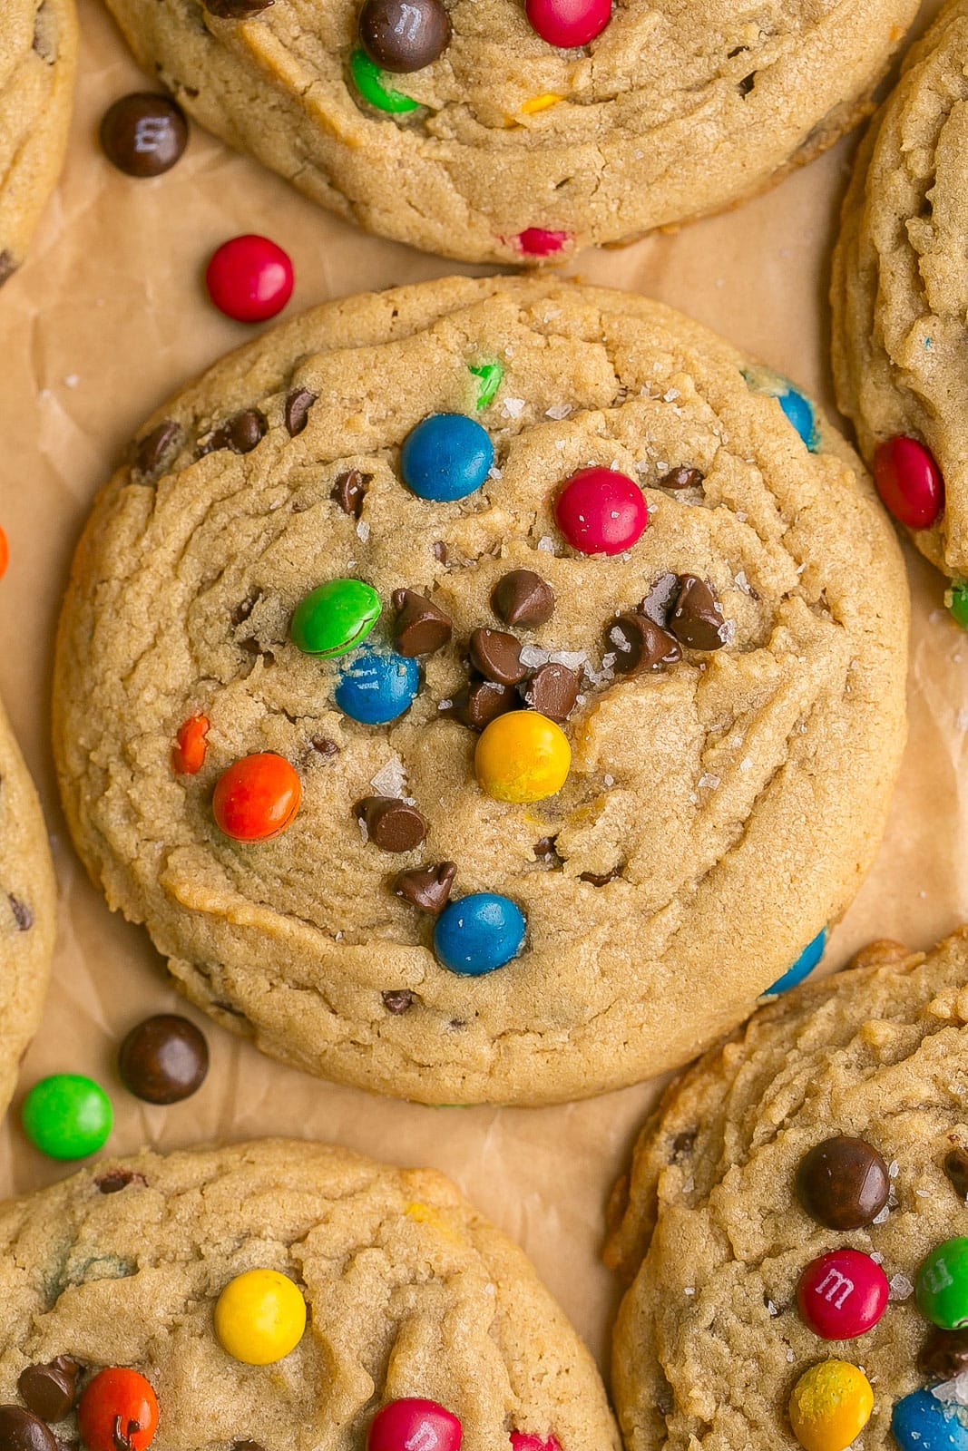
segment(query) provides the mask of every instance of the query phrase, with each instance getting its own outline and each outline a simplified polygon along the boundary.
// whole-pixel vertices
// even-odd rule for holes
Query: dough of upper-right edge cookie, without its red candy
[[[945,479],[945,512],[913,533],[968,576],[968,3],[945,4],[858,152],[833,263],[837,402],[861,450],[907,434]]]

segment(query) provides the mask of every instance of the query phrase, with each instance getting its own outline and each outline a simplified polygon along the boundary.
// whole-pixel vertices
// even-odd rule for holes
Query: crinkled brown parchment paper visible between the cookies
[[[923,6],[919,29],[936,9],[938,0]],[[12,554],[0,585],[0,692],[44,798],[61,892],[54,985],[22,1082],[55,1071],[102,1081],[116,1110],[113,1152],[292,1133],[437,1165],[524,1245],[604,1362],[615,1286],[598,1259],[602,1210],[659,1084],[562,1109],[427,1109],[283,1068],[184,1004],[147,934],[107,911],[67,839],[48,711],[70,556],[94,490],[141,421],[253,337],[208,303],[209,252],[238,232],[273,237],[296,267],[289,312],[460,270],[364,237],[197,128],[167,176],[135,181],[115,171],[97,148],[97,123],[145,78],[99,0],[81,0],[80,12],[64,180],[28,264],[0,299],[0,524]],[[832,406],[827,270],[855,139],[734,212],[624,251],[586,252],[572,271],[694,313]],[[927,948],[968,918],[968,636],[942,608],[940,576],[910,548],[907,559],[907,755],[884,846],[832,936],[829,966],[878,936]],[[126,1029],[161,1010],[194,1017],[212,1051],[200,1093],[170,1109],[138,1103],[113,1068]],[[0,1130],[0,1193],[65,1172],[26,1143],[17,1107],[19,1098]]]

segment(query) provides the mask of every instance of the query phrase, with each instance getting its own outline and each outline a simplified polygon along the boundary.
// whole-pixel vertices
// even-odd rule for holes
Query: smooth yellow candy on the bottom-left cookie
[[[299,1345],[306,1302],[279,1270],[237,1274],[215,1304],[215,1333],[223,1351],[245,1365],[270,1365]]]

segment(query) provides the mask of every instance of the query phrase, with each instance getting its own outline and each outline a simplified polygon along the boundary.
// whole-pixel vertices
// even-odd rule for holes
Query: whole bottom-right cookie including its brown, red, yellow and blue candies
[[[627,1451],[965,1444],[968,1335],[932,1284],[943,1245],[968,1293],[968,929],[858,962],[760,1008],[641,1133],[607,1252]]]

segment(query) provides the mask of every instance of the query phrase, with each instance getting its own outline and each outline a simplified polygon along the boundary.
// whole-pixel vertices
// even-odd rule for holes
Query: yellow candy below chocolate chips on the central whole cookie
[[[496,801],[543,801],[560,791],[572,747],[560,726],[540,711],[508,711],[485,728],[475,770],[482,791]]]

